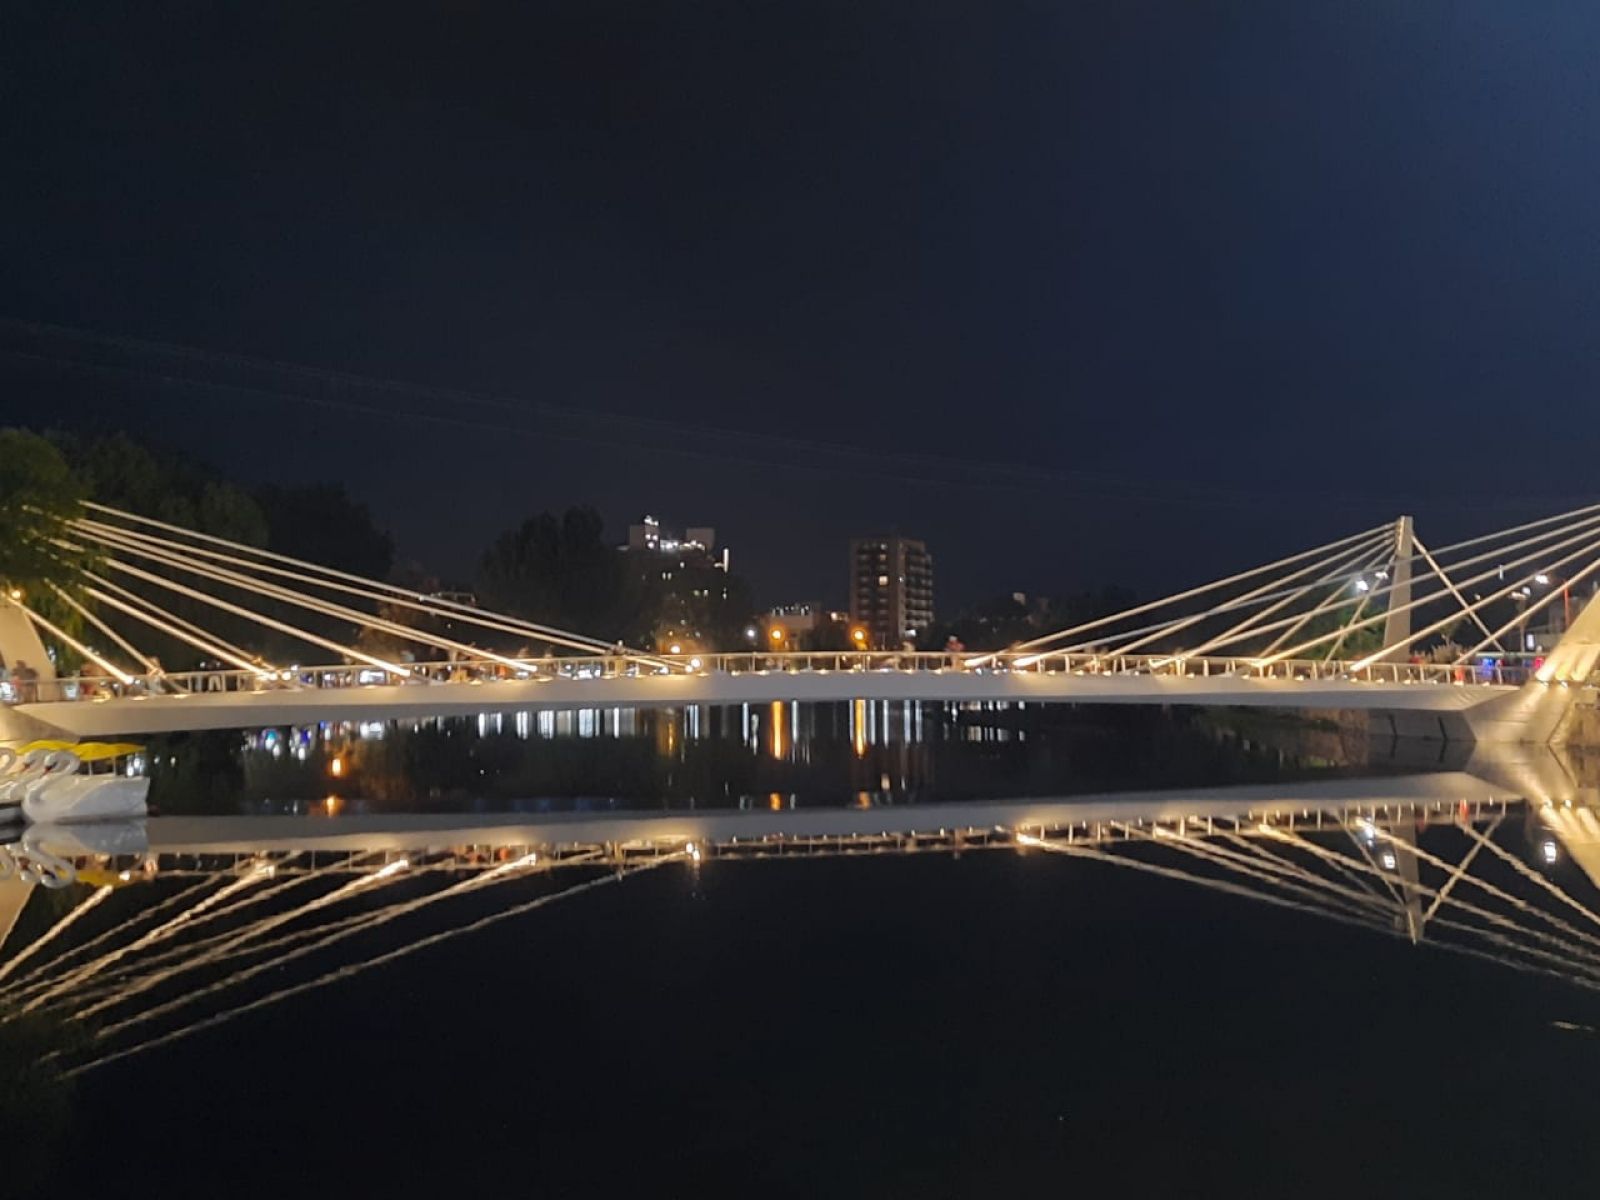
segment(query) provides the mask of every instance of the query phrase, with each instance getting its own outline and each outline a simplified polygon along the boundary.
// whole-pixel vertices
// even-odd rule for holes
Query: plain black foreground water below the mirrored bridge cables
[[[1590,995],[1029,859],[573,899],[78,1090],[72,1162],[274,1194],[1592,1195]]]

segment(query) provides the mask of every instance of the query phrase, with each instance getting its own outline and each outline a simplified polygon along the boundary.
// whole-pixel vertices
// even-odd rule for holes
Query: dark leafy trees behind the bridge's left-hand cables
[[[26,592],[29,606],[69,632],[80,632],[82,619],[54,589],[77,586],[82,576],[75,568],[93,570],[98,558],[70,549],[69,522],[83,501],[419,592],[470,592],[485,608],[632,648],[666,642],[731,648],[754,616],[744,579],[693,563],[662,573],[648,555],[626,554],[608,539],[592,507],[534,514],[496,536],[469,578],[446,578],[398,560],[392,536],[342,483],[250,486],[120,432],[85,437],[0,429],[0,582]],[[382,640],[371,629],[293,611],[226,584],[206,589],[256,611],[293,614],[299,627],[341,643]],[[290,635],[194,598],[168,595],[163,605],[274,661],[306,651]],[[384,616],[416,621],[405,611]],[[147,630],[142,637],[154,638],[168,669],[198,666],[197,651],[186,643]]]

